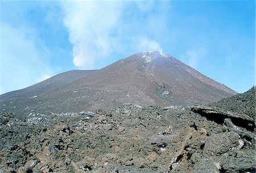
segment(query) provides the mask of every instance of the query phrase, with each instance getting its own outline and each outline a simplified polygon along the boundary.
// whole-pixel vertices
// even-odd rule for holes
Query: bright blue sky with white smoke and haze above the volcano
[[[1,1],[0,94],[157,49],[237,92],[255,85],[254,1]]]

